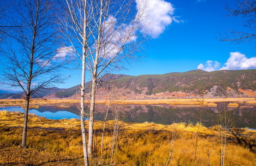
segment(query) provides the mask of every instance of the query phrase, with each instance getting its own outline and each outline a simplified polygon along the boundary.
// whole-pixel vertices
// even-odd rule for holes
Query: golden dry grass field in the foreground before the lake
[[[83,165],[79,119],[51,120],[29,114],[27,149],[19,149],[23,113],[0,112],[0,165]],[[88,122],[85,123],[86,129]],[[101,157],[103,122],[95,122],[91,166],[192,166],[198,124],[160,125],[118,122],[118,143],[113,143],[114,121],[107,121]],[[196,166],[220,166],[220,130],[200,126]],[[170,157],[171,156],[171,157]],[[169,158],[169,160],[168,160]],[[256,131],[233,129],[226,144],[226,166],[255,166]]]

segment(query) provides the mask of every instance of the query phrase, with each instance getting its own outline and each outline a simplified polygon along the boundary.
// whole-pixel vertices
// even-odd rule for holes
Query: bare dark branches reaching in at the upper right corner
[[[255,0],[237,0],[236,8],[226,6],[226,11],[229,12],[227,16],[242,16],[244,20],[244,27],[248,28],[247,32],[228,30],[223,35],[220,34],[220,41],[231,41],[234,43],[252,42],[256,38],[255,23],[256,23],[256,1]]]

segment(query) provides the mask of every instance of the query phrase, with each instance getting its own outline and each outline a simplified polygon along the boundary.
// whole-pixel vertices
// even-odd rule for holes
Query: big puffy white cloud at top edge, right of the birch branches
[[[172,17],[175,8],[170,2],[164,0],[136,0],[137,10],[140,13],[140,23],[143,32],[152,38],[160,36],[166,27],[172,23],[180,23],[178,17]],[[143,8],[146,3],[146,9]]]

